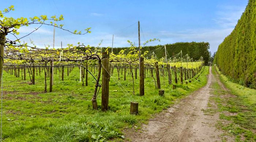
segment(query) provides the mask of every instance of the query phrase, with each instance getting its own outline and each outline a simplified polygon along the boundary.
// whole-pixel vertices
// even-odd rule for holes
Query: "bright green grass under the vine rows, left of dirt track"
[[[4,142],[92,142],[123,141],[123,129],[147,123],[154,114],[166,109],[177,99],[187,96],[207,82],[208,66],[188,85],[168,85],[167,77],[161,87],[164,97],[158,95],[150,70],[145,78],[145,96],[139,96],[139,80],[135,80],[132,95],[132,78],[118,81],[116,69],[110,78],[109,110],[103,112],[101,91],[97,102],[99,110],[93,110],[91,97],[95,81],[89,76],[89,86],[79,83],[79,69],[75,68],[60,81],[59,72],[54,74],[53,92],[44,93],[44,76],[35,77],[35,85],[27,84],[14,75],[3,75],[3,140]],[[65,70],[66,71],[66,70]],[[96,74],[96,73],[94,73]],[[138,76],[139,78],[139,76]],[[29,75],[27,74],[27,80]],[[49,78],[47,78],[49,84]],[[49,90],[49,88],[48,88]],[[139,102],[139,115],[129,114],[130,102]]]

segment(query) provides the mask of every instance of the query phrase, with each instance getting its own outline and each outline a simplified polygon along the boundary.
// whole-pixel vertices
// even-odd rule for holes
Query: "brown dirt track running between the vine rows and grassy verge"
[[[215,128],[218,113],[205,115],[211,84],[216,81],[211,73],[207,85],[194,92],[179,104],[163,111],[148,125],[142,126],[142,133],[128,134],[133,142],[217,142],[221,141],[221,131]]]

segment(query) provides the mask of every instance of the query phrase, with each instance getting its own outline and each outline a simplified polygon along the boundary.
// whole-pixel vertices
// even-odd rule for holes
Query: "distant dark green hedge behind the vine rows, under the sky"
[[[142,52],[153,51],[163,45],[156,46],[144,46]],[[208,42],[177,42],[174,44],[166,44],[166,50],[170,57],[178,54],[182,50],[182,54],[188,54],[189,57],[193,58],[194,61],[199,60],[202,56],[204,58],[205,64],[208,64],[210,58],[209,52],[210,44]],[[113,48],[115,54],[119,53],[122,49],[128,48]],[[156,53],[158,58],[165,57],[165,50],[158,50]]]

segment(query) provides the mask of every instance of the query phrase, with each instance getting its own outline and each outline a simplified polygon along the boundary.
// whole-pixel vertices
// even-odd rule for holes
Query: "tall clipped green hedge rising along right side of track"
[[[219,45],[214,64],[234,81],[256,89],[256,0],[249,0],[236,27]]]

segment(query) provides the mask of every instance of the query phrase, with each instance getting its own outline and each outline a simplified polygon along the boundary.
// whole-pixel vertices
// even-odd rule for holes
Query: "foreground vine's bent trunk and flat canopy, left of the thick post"
[[[5,45],[4,48],[4,58],[11,60],[23,60],[31,63],[32,67],[41,66],[46,67],[47,63],[50,62],[50,67],[53,70],[53,62],[56,61],[73,61],[73,62],[83,62],[87,60],[97,60],[98,64],[98,75],[94,77],[96,83],[94,88],[94,94],[92,97],[93,109],[97,109],[97,94],[99,84],[99,79],[101,77],[101,57],[98,54],[92,53],[90,48],[84,45],[79,45],[77,47],[66,48],[66,49],[42,49],[27,45]],[[38,63],[44,62],[44,66],[38,65]],[[79,64],[72,64],[79,65]],[[24,66],[24,65],[23,65]],[[59,65],[59,66],[67,66],[67,65]],[[82,65],[79,65],[82,66]],[[87,70],[84,66],[84,69]],[[91,74],[92,75],[92,74]],[[93,75],[92,75],[93,76]],[[45,82],[46,84],[46,82]]]

